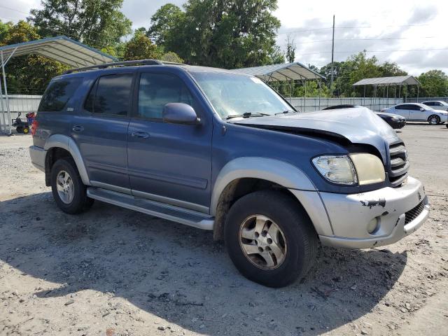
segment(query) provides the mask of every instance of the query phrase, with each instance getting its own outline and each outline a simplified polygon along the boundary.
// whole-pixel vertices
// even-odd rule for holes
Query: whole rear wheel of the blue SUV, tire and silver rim
[[[73,159],[57,160],[51,168],[50,182],[57,207],[66,214],[79,214],[92,207],[94,200],[87,197]]]

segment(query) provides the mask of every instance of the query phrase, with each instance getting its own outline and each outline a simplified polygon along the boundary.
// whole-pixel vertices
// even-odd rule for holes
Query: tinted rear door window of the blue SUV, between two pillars
[[[85,109],[93,113],[126,116],[130,109],[132,73],[98,78],[85,101]]]

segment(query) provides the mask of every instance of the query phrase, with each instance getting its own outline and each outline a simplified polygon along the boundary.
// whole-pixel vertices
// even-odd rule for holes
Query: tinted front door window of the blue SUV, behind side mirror
[[[168,103],[193,106],[193,97],[181,78],[167,73],[141,73],[137,116],[161,119]]]

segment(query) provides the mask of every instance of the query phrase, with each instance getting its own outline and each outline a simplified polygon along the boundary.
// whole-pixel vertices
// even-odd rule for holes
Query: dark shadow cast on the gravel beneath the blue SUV
[[[321,248],[304,280],[266,288],[237,272],[211,232],[102,202],[70,216],[40,193],[0,203],[0,259],[60,283],[31,293],[38,300],[92,289],[207,335],[319,335],[371,311],[407,254]]]

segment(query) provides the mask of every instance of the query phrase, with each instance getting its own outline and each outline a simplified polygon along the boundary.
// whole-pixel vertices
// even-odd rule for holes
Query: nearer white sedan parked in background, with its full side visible
[[[398,104],[388,109],[381,109],[381,112],[398,114],[398,116],[405,117],[407,121],[427,121],[430,125],[437,125],[448,121],[448,112],[437,111],[424,104]]]

